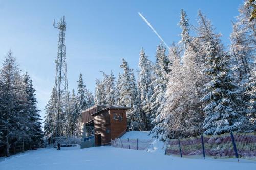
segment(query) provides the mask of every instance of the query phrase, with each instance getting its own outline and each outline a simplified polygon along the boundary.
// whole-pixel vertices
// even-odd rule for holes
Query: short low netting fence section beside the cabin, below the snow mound
[[[134,150],[147,150],[153,139],[115,139],[111,140],[112,147]]]

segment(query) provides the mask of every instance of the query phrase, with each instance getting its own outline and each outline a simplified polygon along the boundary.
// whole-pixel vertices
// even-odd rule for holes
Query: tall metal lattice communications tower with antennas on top
[[[59,29],[59,42],[58,42],[58,55],[56,63],[56,75],[55,75],[55,97],[54,97],[54,116],[56,118],[56,136],[63,136],[63,128],[66,130],[66,137],[68,136],[69,128],[69,90],[68,90],[68,77],[67,77],[67,61],[66,61],[66,46],[65,46],[65,31],[66,22],[65,17],[55,25],[53,21],[53,27]]]

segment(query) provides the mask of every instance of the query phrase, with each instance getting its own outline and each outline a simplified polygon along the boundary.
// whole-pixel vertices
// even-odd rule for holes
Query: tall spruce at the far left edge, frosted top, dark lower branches
[[[19,72],[16,59],[9,51],[0,70],[0,137],[5,144],[7,157],[10,156],[12,139],[20,137],[21,127],[27,128],[25,115],[21,115],[19,109],[21,96],[18,96],[18,92],[22,91],[17,84],[21,83],[18,81],[21,77]]]

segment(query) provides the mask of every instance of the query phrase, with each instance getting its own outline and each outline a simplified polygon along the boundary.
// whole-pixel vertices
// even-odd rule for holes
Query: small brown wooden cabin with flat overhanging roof
[[[95,105],[82,112],[84,127],[94,127],[95,146],[110,145],[126,133],[126,110],[130,107]]]

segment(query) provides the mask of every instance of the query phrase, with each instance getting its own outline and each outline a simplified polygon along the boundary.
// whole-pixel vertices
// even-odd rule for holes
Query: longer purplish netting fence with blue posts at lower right
[[[256,133],[229,133],[167,139],[165,155],[256,160]]]

